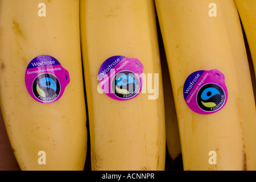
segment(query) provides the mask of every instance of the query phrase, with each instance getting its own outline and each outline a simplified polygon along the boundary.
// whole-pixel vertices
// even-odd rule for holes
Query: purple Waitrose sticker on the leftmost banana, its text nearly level
[[[35,57],[26,69],[28,93],[34,100],[44,104],[59,100],[69,81],[68,71],[52,56]]]

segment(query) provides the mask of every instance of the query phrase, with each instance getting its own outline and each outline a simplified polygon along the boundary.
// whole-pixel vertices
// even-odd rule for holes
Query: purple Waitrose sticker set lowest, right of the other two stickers
[[[188,107],[199,114],[216,113],[228,100],[225,77],[217,69],[193,72],[185,81],[183,94]]]

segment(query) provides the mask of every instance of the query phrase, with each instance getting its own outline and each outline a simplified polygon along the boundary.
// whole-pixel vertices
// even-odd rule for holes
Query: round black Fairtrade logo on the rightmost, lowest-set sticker
[[[205,84],[197,93],[197,105],[204,111],[220,109],[226,100],[225,92],[217,84]]]

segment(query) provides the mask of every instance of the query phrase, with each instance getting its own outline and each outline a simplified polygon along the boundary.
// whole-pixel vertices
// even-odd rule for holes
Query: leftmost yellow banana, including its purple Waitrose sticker
[[[0,1],[0,104],[22,170],[82,170],[79,1]]]

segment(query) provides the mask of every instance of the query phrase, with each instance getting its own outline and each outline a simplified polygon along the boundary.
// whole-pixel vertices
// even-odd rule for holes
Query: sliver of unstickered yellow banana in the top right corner
[[[235,0],[256,70],[256,1]]]

